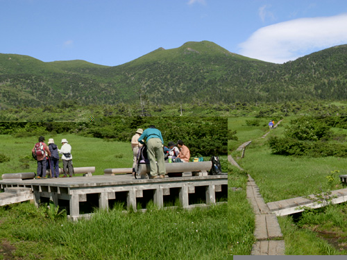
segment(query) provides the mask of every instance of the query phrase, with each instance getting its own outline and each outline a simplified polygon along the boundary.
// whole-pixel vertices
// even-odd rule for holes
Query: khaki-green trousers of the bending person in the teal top
[[[149,157],[151,176],[165,174],[164,152],[162,150],[162,141],[159,138],[151,138],[147,141],[147,155]]]

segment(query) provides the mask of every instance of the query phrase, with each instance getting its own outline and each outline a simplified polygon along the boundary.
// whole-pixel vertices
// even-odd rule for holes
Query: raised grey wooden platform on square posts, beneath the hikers
[[[88,218],[95,207],[108,209],[115,202],[137,211],[137,204],[145,209],[153,200],[158,207],[172,205],[176,200],[186,209],[215,205],[219,198],[227,198],[228,175],[165,177],[137,179],[132,175],[94,175],[58,179],[0,180],[3,190],[26,188],[36,205],[49,202],[67,209],[70,219]],[[31,197],[32,198],[32,197]]]

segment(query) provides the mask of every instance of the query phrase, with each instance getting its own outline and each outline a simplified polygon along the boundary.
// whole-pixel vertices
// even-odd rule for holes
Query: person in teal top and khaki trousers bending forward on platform
[[[162,132],[155,128],[154,125],[150,125],[149,128],[144,130],[142,135],[139,137],[139,144],[144,144],[144,141],[142,141],[144,138],[146,138],[149,168],[151,169],[149,178],[164,178],[166,171],[164,163],[164,153],[162,151],[162,146],[164,145],[164,141],[162,140]],[[158,167],[155,161],[157,161]],[[160,176],[158,176],[158,174]]]

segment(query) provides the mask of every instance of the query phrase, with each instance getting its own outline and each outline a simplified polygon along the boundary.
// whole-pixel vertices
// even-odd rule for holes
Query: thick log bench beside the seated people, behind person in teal
[[[175,162],[165,164],[166,173],[185,173],[192,172],[193,176],[207,176],[212,168],[212,162]],[[137,175],[146,179],[150,173],[149,164],[139,164],[136,168]]]

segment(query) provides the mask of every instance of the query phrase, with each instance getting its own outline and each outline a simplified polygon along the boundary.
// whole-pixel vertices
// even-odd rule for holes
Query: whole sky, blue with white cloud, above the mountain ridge
[[[124,64],[208,40],[269,62],[347,44],[346,0],[0,0],[0,53]]]

